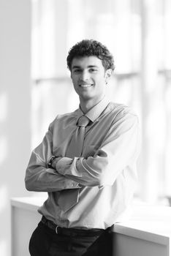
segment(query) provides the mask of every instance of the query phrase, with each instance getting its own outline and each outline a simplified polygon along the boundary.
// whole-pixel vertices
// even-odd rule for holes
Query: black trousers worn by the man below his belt
[[[29,242],[31,256],[113,256],[112,233],[100,236],[61,236],[39,222]]]

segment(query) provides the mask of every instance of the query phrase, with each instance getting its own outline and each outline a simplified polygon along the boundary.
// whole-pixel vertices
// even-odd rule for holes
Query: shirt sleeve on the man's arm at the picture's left
[[[77,181],[47,167],[50,157],[52,157],[52,133],[49,129],[42,143],[31,153],[26,169],[26,189],[36,192],[55,192],[79,187]]]

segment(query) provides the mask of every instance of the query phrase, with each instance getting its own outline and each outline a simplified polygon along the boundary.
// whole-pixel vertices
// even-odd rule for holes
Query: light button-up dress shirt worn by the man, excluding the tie
[[[66,148],[83,116],[79,109],[58,115],[37,148],[26,170],[26,188],[47,192],[39,213],[61,227],[106,229],[126,217],[137,182],[136,161],[140,151],[140,126],[132,110],[102,99],[86,113],[91,122],[81,157],[67,157]],[[47,163],[61,157],[56,170]],[[62,189],[80,188],[78,203],[62,211]]]

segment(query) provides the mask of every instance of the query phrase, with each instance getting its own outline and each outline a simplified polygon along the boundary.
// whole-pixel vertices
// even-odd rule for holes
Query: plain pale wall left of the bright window
[[[28,195],[31,1],[0,0],[0,255],[10,255],[9,198]],[[23,227],[24,232],[24,227]]]

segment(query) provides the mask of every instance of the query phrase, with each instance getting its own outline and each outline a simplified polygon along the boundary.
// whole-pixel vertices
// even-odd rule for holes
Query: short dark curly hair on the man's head
[[[82,41],[77,42],[77,44],[69,50],[66,58],[68,69],[71,71],[72,60],[74,58],[84,56],[96,56],[97,58],[101,59],[105,70],[115,69],[113,55],[105,45],[102,45],[101,42],[94,39],[83,39]]]

